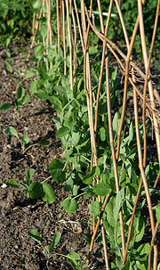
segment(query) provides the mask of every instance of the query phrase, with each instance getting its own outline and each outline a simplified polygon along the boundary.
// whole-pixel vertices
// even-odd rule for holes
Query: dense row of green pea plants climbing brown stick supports
[[[159,194],[156,184],[159,178],[160,137],[159,116],[155,102],[159,95],[156,89],[153,91],[149,65],[155,42],[159,5],[157,4],[156,8],[156,20],[148,54],[144,42],[142,14],[142,7],[145,9],[145,4],[138,1],[139,14],[135,20],[130,43],[122,20],[121,8],[118,1],[115,3],[128,53],[125,55],[108,38],[113,1],[109,4],[106,28],[100,1],[98,1],[100,16],[98,28],[95,25],[97,20],[92,11],[92,1],[90,12],[84,1],[81,1],[81,5],[77,4],[81,9],[81,21],[79,16],[76,16],[79,43],[76,40],[74,12],[75,9],[77,13],[76,1],[73,6],[72,2],[68,4],[66,1],[65,5],[63,3],[60,6],[61,12],[58,12],[59,5],[57,5],[58,37],[55,39],[57,44],[52,45],[53,37],[48,34],[48,38],[43,39],[42,36],[40,43],[35,47],[37,80],[32,82],[29,91],[37,98],[48,100],[57,111],[57,116],[52,120],[57,127],[56,137],[60,137],[65,153],[62,160],[52,160],[49,170],[57,184],[65,184],[64,192],[70,192],[60,207],[68,213],[73,213],[78,209],[79,196],[84,196],[84,200],[90,201],[89,223],[92,223],[93,234],[87,264],[92,257],[96,233],[98,231],[100,233],[101,230],[106,269],[143,270],[151,269],[152,265],[156,270],[157,264],[158,267],[160,266],[155,241],[160,221],[159,205],[152,208],[151,197]],[[65,8],[66,18],[62,15]],[[50,21],[50,5],[43,6],[43,10],[49,18],[47,21]],[[65,19],[67,19],[67,31]],[[71,31],[71,23],[74,32]],[[137,34],[138,27],[140,27],[140,36]],[[49,23],[47,28],[48,33],[52,34]],[[61,42],[60,33],[63,37]],[[65,37],[66,33],[68,37]],[[136,37],[140,39],[145,74],[132,61],[131,54]],[[99,50],[92,46],[94,38],[102,41]],[[117,79],[117,69],[109,67],[108,50],[116,58],[124,76],[123,105],[119,110],[116,110],[114,105],[115,94],[119,95],[117,86],[120,80]],[[144,83],[143,91],[136,84],[137,72]],[[127,119],[125,113],[129,83],[132,86],[133,112],[130,119]],[[147,86],[148,99],[146,98]],[[141,123],[137,95],[143,103]],[[146,120],[147,110],[152,114],[153,125],[156,127],[157,159],[150,161],[147,159],[147,135],[150,128],[149,120]],[[144,242],[146,217],[141,214],[146,204],[152,233],[150,243]],[[156,210],[156,225],[153,210]],[[115,261],[108,260],[108,252],[114,253]]]

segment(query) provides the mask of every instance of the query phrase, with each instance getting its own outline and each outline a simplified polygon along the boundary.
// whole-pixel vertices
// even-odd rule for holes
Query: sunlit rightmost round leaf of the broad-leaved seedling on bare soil
[[[44,183],[42,184],[42,186],[43,186],[43,191],[41,194],[41,198],[48,203],[54,202],[56,200],[56,196],[52,188],[52,185]]]

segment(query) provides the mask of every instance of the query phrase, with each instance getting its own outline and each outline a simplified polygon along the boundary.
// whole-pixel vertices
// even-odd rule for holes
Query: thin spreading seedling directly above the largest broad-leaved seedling
[[[20,144],[21,144],[21,149],[23,151],[23,154],[28,151],[29,148],[33,147],[33,146],[36,146],[36,145],[42,145],[42,146],[49,146],[50,145],[50,142],[48,141],[48,138],[44,138],[42,139],[39,143],[34,143],[30,146],[28,146],[28,148],[25,149],[25,146],[27,143],[30,142],[29,138],[28,138],[28,135],[22,135],[21,137],[21,140],[20,140],[20,137],[16,131],[16,129],[14,127],[8,127],[6,130],[5,130],[5,133],[8,134],[8,135],[12,135],[12,136],[15,136],[18,138]]]

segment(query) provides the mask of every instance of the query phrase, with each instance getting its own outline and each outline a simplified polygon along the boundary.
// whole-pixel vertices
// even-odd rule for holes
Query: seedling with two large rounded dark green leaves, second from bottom
[[[34,168],[29,168],[27,173],[27,180],[24,183],[19,183],[15,179],[9,179],[7,184],[14,188],[22,188],[23,193],[31,199],[41,198],[48,203],[52,203],[56,200],[55,192],[51,184],[45,184],[49,178],[46,178],[43,182],[32,182],[32,176],[35,173]]]

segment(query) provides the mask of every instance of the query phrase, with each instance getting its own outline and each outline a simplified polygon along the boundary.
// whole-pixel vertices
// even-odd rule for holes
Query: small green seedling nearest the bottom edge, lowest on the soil
[[[47,246],[43,246],[43,244],[42,244],[42,235],[40,233],[36,232],[35,230],[28,230],[28,235],[31,238],[33,238],[35,241],[37,241],[38,244],[40,244],[41,247],[43,248],[44,255],[47,258],[47,261],[46,261],[47,268],[48,268],[50,258],[52,258],[52,256],[54,256],[54,255],[60,255],[60,256],[63,256],[65,258],[67,258],[68,263],[74,269],[80,270],[80,269],[84,269],[84,266],[86,266],[86,265],[81,264],[80,262],[76,262],[76,260],[80,260],[80,257],[76,252],[70,252],[70,253],[68,253],[67,256],[65,256],[63,254],[59,254],[59,253],[52,253],[53,248],[55,246],[57,246],[57,244],[60,241],[61,233],[55,233],[54,236],[53,236],[51,245],[47,245]]]

